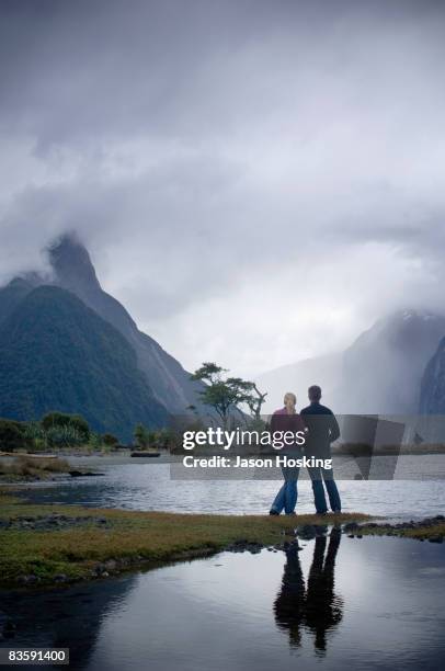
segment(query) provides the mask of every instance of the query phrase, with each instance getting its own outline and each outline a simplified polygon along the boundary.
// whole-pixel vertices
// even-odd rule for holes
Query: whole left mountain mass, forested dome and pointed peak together
[[[199,407],[202,384],[102,289],[76,236],[48,253],[49,275],[28,273],[0,288],[0,416],[79,412],[128,439],[137,422],[159,425]]]

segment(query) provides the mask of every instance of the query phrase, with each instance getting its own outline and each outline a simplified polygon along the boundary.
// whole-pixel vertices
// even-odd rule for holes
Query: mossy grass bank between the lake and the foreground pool
[[[210,555],[233,543],[279,545],[297,525],[362,522],[368,515],[198,515],[32,505],[0,493],[0,584],[54,584]],[[360,533],[388,533],[364,526]],[[357,533],[357,532],[355,532]],[[392,532],[391,532],[392,533]],[[396,533],[396,532],[395,532]],[[397,535],[445,535],[445,523]]]

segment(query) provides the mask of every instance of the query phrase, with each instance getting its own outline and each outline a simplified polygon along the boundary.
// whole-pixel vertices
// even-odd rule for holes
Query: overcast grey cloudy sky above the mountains
[[[444,2],[0,8],[1,282],[76,229],[142,330],[240,375],[445,312]]]

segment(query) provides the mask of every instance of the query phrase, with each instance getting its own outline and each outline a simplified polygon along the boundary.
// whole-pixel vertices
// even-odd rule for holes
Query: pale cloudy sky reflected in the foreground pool
[[[332,538],[309,542],[296,554],[306,595],[317,543],[324,543],[326,562]],[[425,557],[419,542],[342,536],[334,554],[332,583],[318,577],[311,616],[298,606],[295,567],[290,580],[288,575],[294,559],[283,553],[225,553],[141,576],[125,609],[102,623],[96,659],[105,655],[113,668],[113,660],[130,659],[135,649],[140,655],[141,646],[149,650],[150,668],[166,670],[169,663],[170,669],[286,669],[289,656],[305,669],[317,668],[320,659],[329,660],[329,669],[345,662],[354,669],[407,669],[427,663],[429,656],[432,663],[444,659],[444,607],[436,578],[420,572]],[[444,561],[443,548],[430,546],[426,554],[433,566]],[[333,599],[336,614],[327,615]],[[317,617],[324,627],[318,640]],[[93,664],[94,656],[89,669]]]

